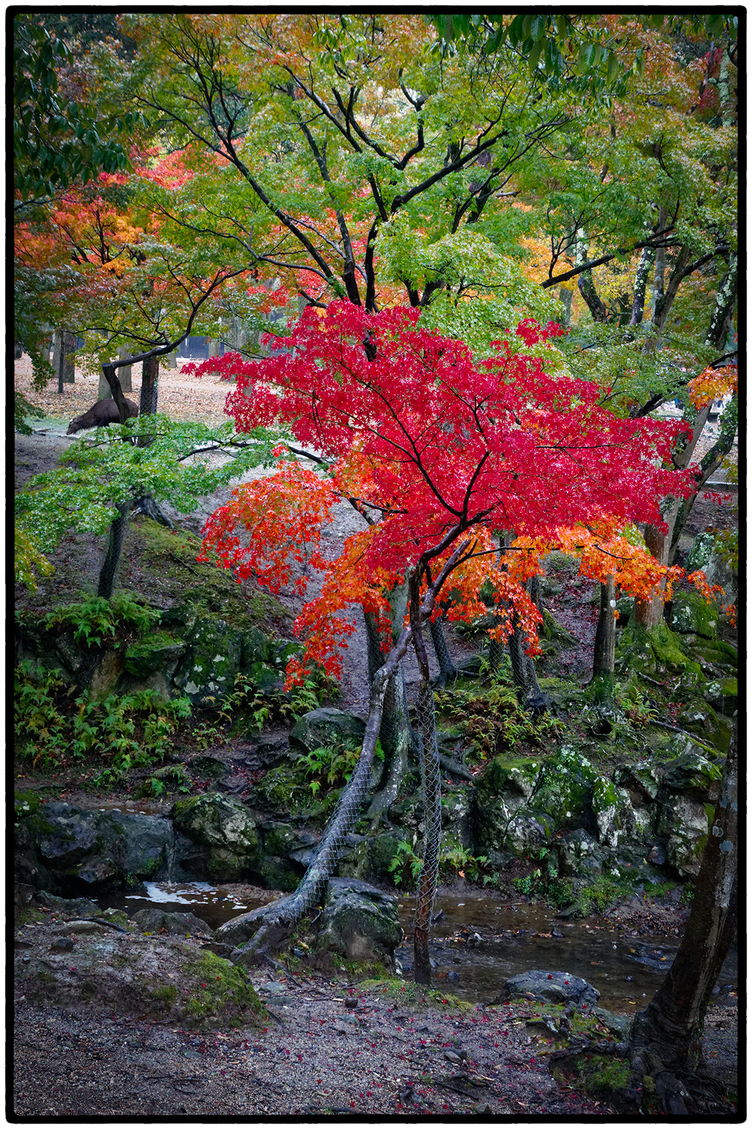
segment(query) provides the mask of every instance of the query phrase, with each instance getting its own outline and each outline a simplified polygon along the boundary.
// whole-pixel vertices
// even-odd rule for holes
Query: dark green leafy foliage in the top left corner
[[[61,90],[58,71],[72,62],[65,43],[30,17],[14,20],[14,173],[20,198],[52,196],[76,181],[86,184],[104,169],[130,169],[116,132],[130,132],[142,115],[102,114]]]

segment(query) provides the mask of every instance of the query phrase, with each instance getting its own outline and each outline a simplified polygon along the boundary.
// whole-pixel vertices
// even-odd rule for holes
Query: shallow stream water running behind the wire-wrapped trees
[[[158,904],[166,912],[190,912],[211,929],[239,913],[265,904],[244,899],[230,889],[207,882],[148,882],[146,892],[112,894],[104,908],[135,912]],[[395,955],[405,973],[412,968],[414,898],[399,896],[405,940]],[[675,938],[624,936],[604,918],[562,921],[545,907],[495,904],[488,896],[437,898],[431,933],[434,986],[473,1004],[493,1000],[509,977],[531,969],[566,971],[582,977],[601,992],[598,1004],[630,1014],[648,1003],[671,968]],[[737,988],[737,952],[733,948],[718,987]]]

